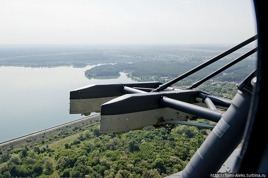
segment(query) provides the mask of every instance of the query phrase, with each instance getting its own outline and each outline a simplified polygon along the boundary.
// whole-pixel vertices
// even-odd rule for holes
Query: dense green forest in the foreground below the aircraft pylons
[[[0,151],[0,177],[165,177],[186,166],[206,135],[186,125],[100,135],[92,125],[57,144]]]

